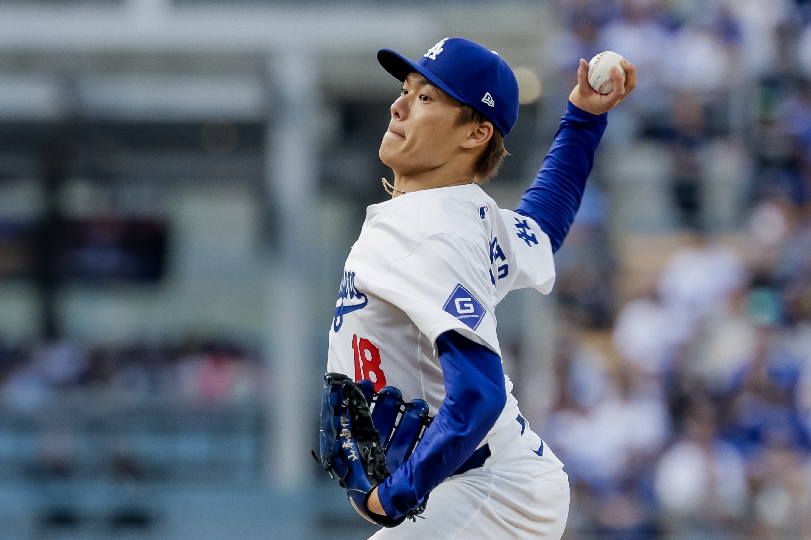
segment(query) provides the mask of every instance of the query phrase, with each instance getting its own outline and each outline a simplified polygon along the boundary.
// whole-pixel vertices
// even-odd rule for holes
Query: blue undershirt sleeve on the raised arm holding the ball
[[[547,233],[552,253],[563,244],[580,207],[607,116],[586,113],[569,102],[538,176],[515,209]]]

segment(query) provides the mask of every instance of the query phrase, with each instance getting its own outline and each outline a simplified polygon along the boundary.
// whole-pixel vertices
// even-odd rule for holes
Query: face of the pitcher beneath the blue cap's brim
[[[399,175],[411,176],[447,164],[464,153],[469,126],[457,125],[461,103],[422,75],[410,74],[392,104],[392,119],[380,143],[380,159]]]

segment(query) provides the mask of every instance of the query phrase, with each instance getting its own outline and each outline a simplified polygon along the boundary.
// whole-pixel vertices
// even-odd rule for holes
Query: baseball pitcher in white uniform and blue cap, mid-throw
[[[552,254],[580,205],[607,111],[636,87],[578,84],[538,176],[515,210],[480,187],[507,151],[518,85],[496,51],[446,38],[412,62],[377,59],[403,83],[380,159],[392,193],[369,206],[329,330],[320,460],[372,538],[549,538],[569,482],[513,398],[496,337],[509,291],[555,282]],[[430,498],[429,498],[430,495]],[[411,518],[411,519],[406,519]]]

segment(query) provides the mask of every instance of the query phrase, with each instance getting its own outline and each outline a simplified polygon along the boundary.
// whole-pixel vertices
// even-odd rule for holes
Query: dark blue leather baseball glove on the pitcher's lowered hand
[[[341,373],[324,376],[321,409],[320,461],[338,483],[354,509],[368,521],[385,527],[415,519],[423,503],[396,520],[369,512],[371,490],[407,460],[431,423],[422,399],[403,402],[400,390],[387,386],[375,392],[371,381],[354,382]],[[371,412],[370,412],[371,411]],[[315,452],[313,452],[315,456]]]

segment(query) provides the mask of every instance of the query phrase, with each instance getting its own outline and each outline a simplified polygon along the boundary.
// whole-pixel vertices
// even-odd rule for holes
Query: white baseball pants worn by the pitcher
[[[540,437],[518,422],[489,440],[479,469],[448,478],[417,522],[380,529],[370,540],[560,540],[569,515],[569,478]]]

